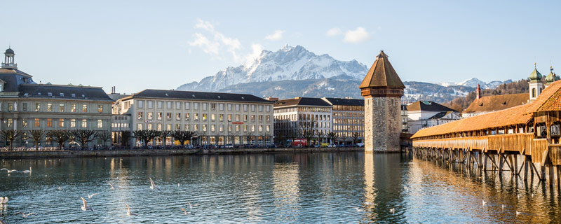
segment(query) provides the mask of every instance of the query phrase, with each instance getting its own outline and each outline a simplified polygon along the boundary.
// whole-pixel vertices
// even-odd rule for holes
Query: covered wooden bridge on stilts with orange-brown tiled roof
[[[511,172],[561,183],[561,81],[534,102],[428,127],[412,136],[422,158],[464,162],[485,171]],[[519,161],[519,158],[521,159]],[[547,171],[547,172],[546,172]]]

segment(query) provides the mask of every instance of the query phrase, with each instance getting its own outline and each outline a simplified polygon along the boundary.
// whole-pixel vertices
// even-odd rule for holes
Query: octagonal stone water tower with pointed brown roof
[[[365,152],[399,152],[401,97],[405,85],[383,50],[359,88],[365,98]]]

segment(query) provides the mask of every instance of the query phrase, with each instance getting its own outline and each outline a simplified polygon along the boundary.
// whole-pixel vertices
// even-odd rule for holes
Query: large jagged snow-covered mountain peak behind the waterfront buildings
[[[349,76],[362,80],[368,68],[356,60],[339,61],[330,55],[316,55],[301,45],[272,52],[263,50],[261,55],[237,67],[227,67],[214,76],[203,78],[177,87],[177,90],[217,91],[240,83],[262,83],[278,80],[323,79]]]

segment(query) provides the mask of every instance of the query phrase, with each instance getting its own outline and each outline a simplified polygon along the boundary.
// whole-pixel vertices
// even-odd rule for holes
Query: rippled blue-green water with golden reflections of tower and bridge
[[[561,221],[558,190],[537,179],[508,172],[499,179],[405,154],[28,159],[2,160],[0,167],[33,167],[32,174],[0,173],[0,196],[10,198],[0,220],[8,224]],[[149,177],[161,191],[149,188]],[[88,199],[93,193],[99,195]],[[93,212],[81,211],[80,197]],[[126,216],[126,204],[139,216]]]

